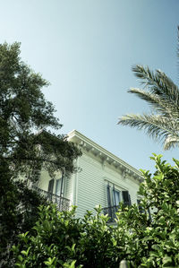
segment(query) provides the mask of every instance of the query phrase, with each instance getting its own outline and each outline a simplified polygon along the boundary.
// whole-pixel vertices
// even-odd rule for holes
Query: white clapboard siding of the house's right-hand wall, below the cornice
[[[129,176],[123,178],[120,169],[104,165],[98,157],[87,151],[83,151],[79,167],[82,170],[78,173],[77,180],[77,217],[81,218],[87,210],[93,211],[98,204],[107,207],[108,182],[118,190],[128,190],[132,203],[136,203],[139,183]]]

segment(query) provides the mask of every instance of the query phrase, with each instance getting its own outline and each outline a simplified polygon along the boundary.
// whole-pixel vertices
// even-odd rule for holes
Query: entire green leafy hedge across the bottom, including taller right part
[[[100,207],[79,220],[74,208],[41,206],[34,228],[13,246],[16,265],[115,268],[125,259],[129,267],[179,267],[179,162],[171,167],[161,155],[151,159],[156,172],[142,170],[140,207],[121,203],[115,227]]]

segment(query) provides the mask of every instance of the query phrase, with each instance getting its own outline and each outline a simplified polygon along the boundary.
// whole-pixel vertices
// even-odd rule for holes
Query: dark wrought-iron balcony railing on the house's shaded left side
[[[64,198],[62,196],[59,196],[59,195],[49,193],[45,190],[38,188],[37,186],[33,186],[32,188],[34,190],[36,190],[39,195],[44,196],[47,199],[47,201],[52,202],[52,203],[56,203],[58,211],[62,212],[62,211],[69,210],[69,207],[70,207],[70,200],[69,199]]]

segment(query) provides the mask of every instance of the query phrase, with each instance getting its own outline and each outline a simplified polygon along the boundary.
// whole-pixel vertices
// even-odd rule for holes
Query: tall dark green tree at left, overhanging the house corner
[[[32,207],[37,211],[41,203],[27,182],[37,182],[42,168],[51,176],[59,170],[72,173],[73,160],[81,155],[64,135],[47,131],[62,127],[53,104],[42,92],[49,83],[21,61],[20,52],[20,43],[0,45],[1,253],[7,252],[16,234],[27,227]],[[25,178],[23,183],[17,181],[20,175]]]

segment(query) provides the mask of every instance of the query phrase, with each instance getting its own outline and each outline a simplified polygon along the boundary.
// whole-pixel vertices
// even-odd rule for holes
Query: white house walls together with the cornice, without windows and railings
[[[132,203],[137,202],[142,180],[138,170],[75,130],[69,134],[69,140],[82,151],[82,156],[74,161],[81,171],[64,179],[64,197],[77,205],[76,217],[83,217],[87,210],[93,211],[98,204],[107,207],[107,185],[110,186],[111,197],[115,187],[120,192],[129,191]],[[60,177],[61,173],[56,174],[56,179]],[[39,186],[46,191],[49,179],[47,171],[42,170]]]

